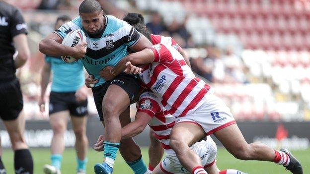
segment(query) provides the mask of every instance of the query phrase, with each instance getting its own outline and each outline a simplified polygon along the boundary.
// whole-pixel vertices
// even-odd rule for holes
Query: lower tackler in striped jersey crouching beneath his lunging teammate
[[[141,133],[147,124],[155,133],[156,139],[161,143],[166,152],[165,159],[159,163],[152,174],[190,174],[182,167],[175,152],[169,146],[170,132],[175,124],[175,117],[170,115],[160,103],[153,92],[144,92],[137,103],[137,114],[135,121],[122,128],[122,139],[134,137]],[[96,151],[103,150],[103,139],[101,135],[95,144]],[[219,171],[215,163],[217,146],[210,136],[190,147],[201,159],[204,169],[208,174],[244,174],[237,170]]]

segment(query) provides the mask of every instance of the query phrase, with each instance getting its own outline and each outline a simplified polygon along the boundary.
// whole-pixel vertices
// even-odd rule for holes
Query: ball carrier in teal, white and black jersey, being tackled
[[[76,47],[62,45],[64,37],[76,29],[85,32],[87,43]],[[104,15],[96,0],[84,0],[79,6],[77,18],[40,42],[39,50],[46,55],[81,58],[88,74],[94,77],[92,92],[106,135],[104,163],[94,166],[98,174],[112,173],[118,149],[135,174],[147,172],[139,146],[132,139],[120,141],[121,127],[130,122],[128,107],[139,96],[139,79],[134,75],[121,73],[114,79],[105,81],[100,78],[99,71],[105,66],[115,66],[128,55],[127,48],[137,52],[151,46],[152,43],[127,22]]]

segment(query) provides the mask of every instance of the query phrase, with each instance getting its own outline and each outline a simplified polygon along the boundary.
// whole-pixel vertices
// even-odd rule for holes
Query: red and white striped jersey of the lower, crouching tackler
[[[170,148],[170,132],[175,123],[175,117],[170,115],[151,91],[142,93],[137,104],[137,112],[144,112],[152,117],[149,126],[155,132],[155,137],[161,143],[166,153],[174,153]]]

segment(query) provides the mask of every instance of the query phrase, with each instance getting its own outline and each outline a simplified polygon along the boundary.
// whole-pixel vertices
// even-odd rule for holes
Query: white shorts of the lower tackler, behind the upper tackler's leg
[[[217,146],[213,139],[208,136],[207,140],[195,143],[190,147],[195,151],[202,160],[202,166],[205,168],[212,166],[215,163],[217,156]],[[180,164],[175,153],[166,154],[165,159],[159,163],[161,171],[165,174],[191,174]]]

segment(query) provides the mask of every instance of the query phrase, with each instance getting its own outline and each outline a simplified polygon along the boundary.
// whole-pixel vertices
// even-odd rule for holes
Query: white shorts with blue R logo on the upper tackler
[[[194,113],[179,116],[175,122],[195,123],[202,127],[207,135],[236,123],[231,110],[215,95],[209,95],[208,100],[197,108]]]

